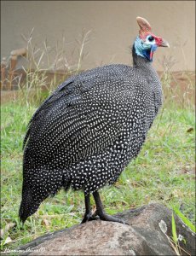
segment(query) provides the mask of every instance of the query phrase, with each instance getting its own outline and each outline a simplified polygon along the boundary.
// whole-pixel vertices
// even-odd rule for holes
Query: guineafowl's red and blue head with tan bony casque
[[[146,19],[137,17],[136,20],[140,26],[140,31],[134,43],[135,54],[146,58],[148,61],[153,61],[153,53],[159,46],[170,47],[170,45],[163,38],[153,34]]]

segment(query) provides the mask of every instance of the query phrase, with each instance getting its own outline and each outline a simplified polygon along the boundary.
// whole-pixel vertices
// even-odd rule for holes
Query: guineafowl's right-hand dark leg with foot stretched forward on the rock
[[[115,218],[110,215],[107,215],[107,213],[103,209],[103,205],[101,203],[101,198],[98,193],[98,191],[95,191],[93,193],[94,199],[95,199],[95,204],[96,204],[96,212],[95,214],[100,217],[101,220],[106,220],[106,221],[112,221],[112,222],[119,222],[122,224],[127,224],[123,219],[120,218]]]

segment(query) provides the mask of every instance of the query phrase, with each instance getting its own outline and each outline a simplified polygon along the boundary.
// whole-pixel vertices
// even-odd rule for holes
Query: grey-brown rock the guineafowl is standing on
[[[101,220],[78,224],[72,228],[38,237],[20,247],[20,255],[176,255],[167,237],[160,230],[164,220],[168,236],[171,236],[171,214],[167,207],[149,204],[116,215],[128,224]],[[187,241],[180,245],[195,255],[195,236],[178,217],[177,235]],[[183,253],[182,255],[188,255]]]

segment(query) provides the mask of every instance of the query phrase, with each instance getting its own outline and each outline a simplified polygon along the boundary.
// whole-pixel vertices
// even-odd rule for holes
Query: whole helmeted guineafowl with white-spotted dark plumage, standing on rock
[[[104,212],[98,190],[115,183],[141,150],[162,103],[153,52],[169,47],[147,20],[136,20],[140,32],[132,48],[133,67],[109,65],[72,76],[32,116],[24,140],[23,222],[49,195],[70,187],[84,190],[82,223],[98,216],[123,222]]]

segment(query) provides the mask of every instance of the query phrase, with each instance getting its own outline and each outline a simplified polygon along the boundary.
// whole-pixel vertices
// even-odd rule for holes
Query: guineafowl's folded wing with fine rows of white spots
[[[69,82],[39,108],[29,127],[25,157],[37,164],[56,159],[72,164],[119,139],[134,90],[124,79],[93,79],[93,83]]]

